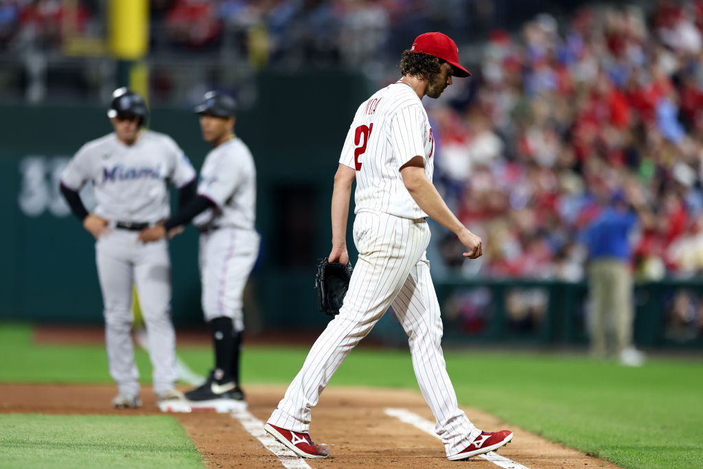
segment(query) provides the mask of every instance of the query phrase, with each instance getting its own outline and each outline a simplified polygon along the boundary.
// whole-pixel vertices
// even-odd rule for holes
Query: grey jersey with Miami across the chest
[[[68,162],[61,182],[79,191],[95,186],[95,213],[105,219],[155,223],[169,217],[167,180],[181,188],[195,179],[193,165],[173,139],[142,130],[132,145],[114,132],[86,143]]]

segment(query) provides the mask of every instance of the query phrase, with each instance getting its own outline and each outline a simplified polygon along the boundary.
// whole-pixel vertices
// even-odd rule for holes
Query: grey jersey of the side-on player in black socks
[[[235,137],[207,154],[200,169],[198,195],[215,206],[193,219],[196,226],[254,229],[257,172],[243,141]]]

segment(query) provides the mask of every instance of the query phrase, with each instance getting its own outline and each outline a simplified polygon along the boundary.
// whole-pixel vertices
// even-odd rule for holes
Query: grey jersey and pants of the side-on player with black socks
[[[200,231],[200,278],[205,321],[228,317],[244,330],[242,296],[259,254],[254,229],[257,174],[254,158],[241,139],[213,148],[200,170],[198,195],[214,207],[193,219]]]

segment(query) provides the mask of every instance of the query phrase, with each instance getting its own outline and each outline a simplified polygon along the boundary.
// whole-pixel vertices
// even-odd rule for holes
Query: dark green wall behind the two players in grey
[[[254,276],[264,326],[325,321],[315,313],[314,262],[330,247],[333,176],[365,95],[366,82],[354,75],[261,75],[257,105],[238,113],[236,132],[257,162],[262,255]],[[49,203],[60,197],[52,165],[111,130],[105,108],[1,108],[0,120],[0,204],[9,224],[0,230],[0,319],[100,323],[93,240]],[[191,110],[152,110],[149,126],[173,136],[200,168],[209,147]],[[39,186],[47,191],[37,216],[18,200],[20,165],[32,155],[43,162]],[[197,250],[192,227],[171,243],[176,323],[202,323]]]

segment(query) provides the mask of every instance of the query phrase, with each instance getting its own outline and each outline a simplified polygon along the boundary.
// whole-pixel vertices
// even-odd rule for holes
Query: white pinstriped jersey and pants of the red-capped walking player
[[[458,408],[441,349],[442,323],[425,250],[430,229],[400,168],[415,156],[431,180],[434,138],[415,91],[397,82],[361,104],[340,163],[356,169],[354,243],[359,260],[340,314],[330,321],[273,411],[269,423],[308,432],[311,408],[347,354],[392,306],[409,337],[420,391],[437,420],[446,454],[481,431]]]

